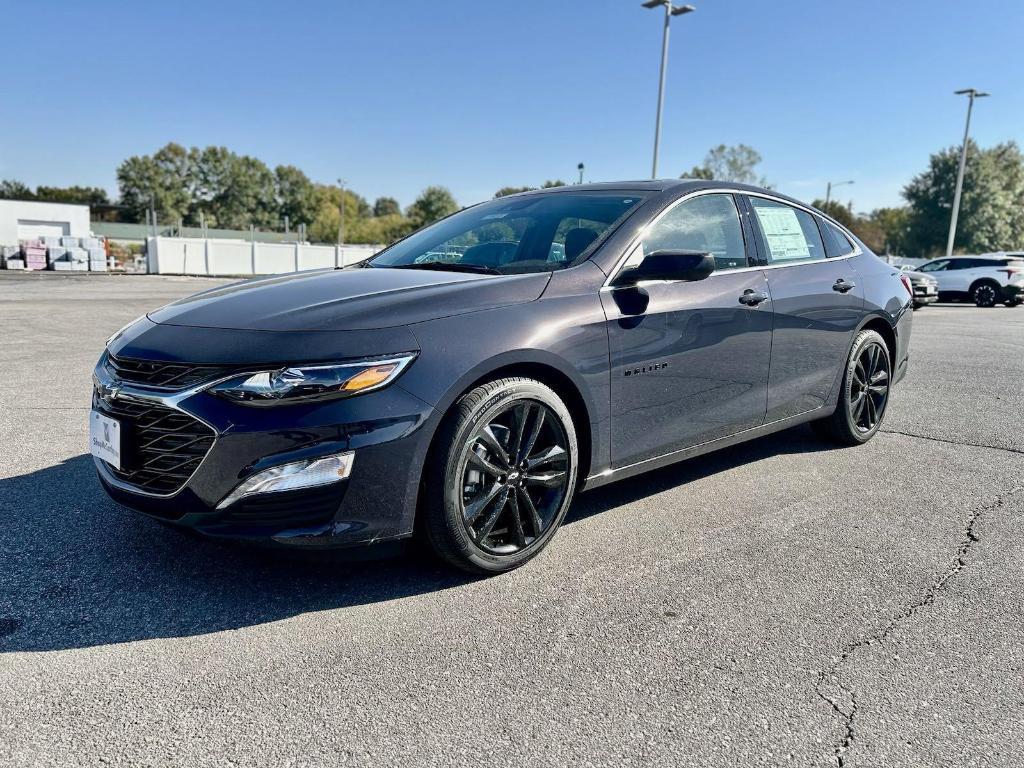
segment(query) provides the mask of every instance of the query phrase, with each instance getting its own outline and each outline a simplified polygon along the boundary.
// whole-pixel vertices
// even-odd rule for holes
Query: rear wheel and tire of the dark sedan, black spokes
[[[820,437],[844,445],[867,442],[885,419],[891,387],[889,347],[878,332],[865,329],[850,348],[836,410],[811,427]]]

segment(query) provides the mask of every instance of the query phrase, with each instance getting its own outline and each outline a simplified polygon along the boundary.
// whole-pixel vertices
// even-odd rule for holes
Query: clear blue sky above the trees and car
[[[692,0],[673,24],[662,176],[717,143],[778,189],[900,202],[939,147],[1024,143],[1021,0]],[[126,157],[223,144],[404,205],[645,178],[660,18],[638,0],[0,0],[0,178],[116,191]]]

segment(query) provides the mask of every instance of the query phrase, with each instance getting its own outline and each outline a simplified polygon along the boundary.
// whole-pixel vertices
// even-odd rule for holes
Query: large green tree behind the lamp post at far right
[[[929,161],[928,170],[903,187],[908,205],[907,250],[919,256],[945,251],[956,184],[959,147]],[[970,140],[956,227],[955,250],[982,253],[1024,245],[1024,157],[1015,141],[981,150]]]

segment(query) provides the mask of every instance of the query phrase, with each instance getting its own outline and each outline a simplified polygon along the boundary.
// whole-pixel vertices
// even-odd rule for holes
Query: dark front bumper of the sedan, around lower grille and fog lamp
[[[93,407],[100,412],[116,416],[122,400],[159,403],[202,422],[214,434],[199,466],[172,493],[139,488],[94,459],[106,493],[131,509],[211,536],[295,546],[341,547],[412,534],[434,412],[398,383],[348,399],[253,408],[202,389],[167,393],[123,385],[102,362],[94,376]],[[131,430],[129,423],[129,441]],[[251,496],[217,509],[256,472],[344,451],[355,453],[345,480]]]

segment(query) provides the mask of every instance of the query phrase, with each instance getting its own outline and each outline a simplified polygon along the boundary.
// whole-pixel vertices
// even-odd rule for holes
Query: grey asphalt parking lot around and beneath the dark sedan
[[[166,529],[85,455],[199,279],[0,274],[0,764],[992,765],[1024,739],[1024,308],[914,314],[884,433],[579,498],[474,580]]]

